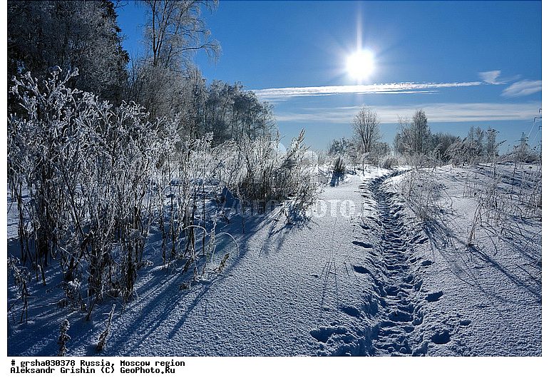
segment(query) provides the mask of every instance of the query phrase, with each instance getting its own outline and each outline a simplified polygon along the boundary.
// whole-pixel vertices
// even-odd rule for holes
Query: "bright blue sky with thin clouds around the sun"
[[[139,56],[144,8],[118,13]],[[389,143],[397,118],[419,108],[433,132],[492,127],[503,149],[523,131],[540,141],[540,1],[220,1],[204,16],[222,55],[195,63],[208,81],[240,81],[273,103],[284,143],[302,128],[312,148],[349,137],[362,104]],[[346,68],[357,45],[374,54],[360,82]]]

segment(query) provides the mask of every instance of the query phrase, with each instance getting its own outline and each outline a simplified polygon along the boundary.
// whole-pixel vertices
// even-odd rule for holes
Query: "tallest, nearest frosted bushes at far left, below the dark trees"
[[[55,259],[67,282],[86,276],[89,317],[105,292],[127,300],[133,290],[161,124],[145,121],[135,103],[113,107],[68,88],[77,74],[54,72],[42,83],[30,74],[14,78],[11,91],[24,111],[9,118],[8,180],[21,261],[43,272]]]

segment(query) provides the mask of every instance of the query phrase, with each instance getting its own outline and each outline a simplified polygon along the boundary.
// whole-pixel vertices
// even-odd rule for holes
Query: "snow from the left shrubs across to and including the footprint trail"
[[[303,225],[259,217],[242,233],[240,221],[232,221],[220,231],[237,237],[241,255],[189,290],[179,289],[180,268],[140,271],[136,297],[118,306],[104,354],[426,354],[416,330],[424,293],[415,267],[426,262],[409,248],[426,238],[405,230],[398,196],[383,188],[395,175],[374,168],[324,188]],[[102,311],[96,318],[106,315]],[[103,322],[83,322],[78,313],[70,319],[71,354],[93,355]],[[12,343],[11,352],[55,354],[57,330],[47,329],[36,347]],[[19,339],[29,332],[22,329]]]

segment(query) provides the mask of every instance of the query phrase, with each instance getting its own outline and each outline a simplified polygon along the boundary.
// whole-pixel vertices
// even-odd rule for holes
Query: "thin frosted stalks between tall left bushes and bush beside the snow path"
[[[221,193],[224,151],[212,146],[212,135],[183,138],[155,174],[155,203],[166,267],[174,260],[197,258],[197,242],[206,252],[206,220],[214,218],[208,207]],[[191,226],[200,225],[200,228]]]

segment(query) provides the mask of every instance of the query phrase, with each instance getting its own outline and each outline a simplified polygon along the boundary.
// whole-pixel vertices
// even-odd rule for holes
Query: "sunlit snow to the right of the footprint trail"
[[[530,170],[526,166],[521,173]],[[474,173],[483,180],[486,170],[473,168]],[[422,225],[430,242],[415,251],[429,262],[418,267],[423,290],[438,293],[438,299],[428,296],[424,304],[424,339],[433,341],[429,355],[540,355],[541,221],[488,220],[486,228],[476,230],[473,245],[466,245],[478,205],[463,198],[467,174],[471,170],[450,165],[436,170],[451,205]],[[509,193],[506,181],[501,201]],[[497,235],[492,228],[498,228]]]

